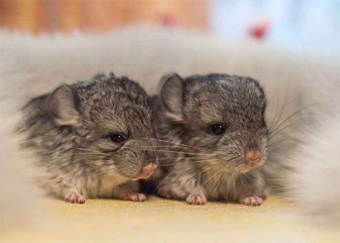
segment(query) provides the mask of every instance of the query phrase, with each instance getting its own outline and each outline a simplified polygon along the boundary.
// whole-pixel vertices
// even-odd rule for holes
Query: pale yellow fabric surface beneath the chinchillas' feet
[[[337,228],[313,225],[293,204],[270,196],[262,206],[44,198],[46,229],[14,228],[3,242],[340,242]]]

